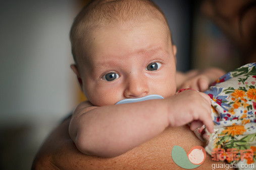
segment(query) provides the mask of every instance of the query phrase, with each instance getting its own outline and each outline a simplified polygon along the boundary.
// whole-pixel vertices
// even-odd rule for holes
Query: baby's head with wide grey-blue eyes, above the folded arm
[[[81,89],[94,106],[176,92],[176,46],[162,11],[146,0],[93,1],[70,32]]]

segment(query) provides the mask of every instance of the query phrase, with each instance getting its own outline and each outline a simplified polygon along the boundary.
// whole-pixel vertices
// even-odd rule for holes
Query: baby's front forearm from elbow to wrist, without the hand
[[[114,157],[157,136],[168,125],[164,100],[149,100],[79,113],[69,131],[81,152]]]

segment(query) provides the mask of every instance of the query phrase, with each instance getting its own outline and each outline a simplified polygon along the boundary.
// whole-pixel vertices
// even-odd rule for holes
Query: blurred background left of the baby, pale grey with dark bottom
[[[29,169],[45,136],[76,104],[71,0],[0,6],[0,169]]]

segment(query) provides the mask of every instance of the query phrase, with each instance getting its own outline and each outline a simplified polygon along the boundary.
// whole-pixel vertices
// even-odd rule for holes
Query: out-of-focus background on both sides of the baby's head
[[[87,2],[2,2],[0,169],[29,169],[46,136],[84,99],[70,69],[69,31]],[[154,2],[168,19],[178,70],[239,66],[234,46],[200,14],[200,1]]]

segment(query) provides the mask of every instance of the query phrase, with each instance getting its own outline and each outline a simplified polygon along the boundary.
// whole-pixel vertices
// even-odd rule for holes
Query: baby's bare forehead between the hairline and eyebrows
[[[160,26],[161,23],[163,26]],[[152,25],[150,25],[152,24]],[[159,26],[159,29],[153,30],[155,26]],[[151,26],[150,29],[148,27]],[[137,28],[139,27],[139,28]],[[137,49],[137,53],[139,52],[145,52],[145,51],[150,51],[153,53],[154,51],[157,51],[157,43],[154,41],[156,39],[150,39],[151,44],[155,44],[154,46],[151,47],[145,47],[142,46],[141,44],[137,44],[137,46],[133,46],[133,40],[136,42],[136,38],[140,37],[142,32],[140,30],[146,30],[148,31],[148,34],[151,36],[155,36],[156,39],[159,42],[164,42],[171,47],[171,38],[170,38],[170,33],[168,32],[168,28],[164,26],[163,22],[159,21],[154,21],[151,20],[149,25],[147,23],[142,23],[139,25],[136,25],[136,23],[119,23],[118,25],[104,25],[101,27],[98,27],[94,29],[90,33],[90,36],[88,36],[86,39],[83,39],[78,46],[80,48],[79,52],[79,60],[78,62],[83,62],[85,65],[94,65],[95,62],[100,61],[101,58],[106,58],[108,57],[109,59],[115,58],[117,56],[119,57],[125,57],[129,56],[129,52],[134,51]],[[137,31],[138,30],[138,31]],[[150,32],[153,30],[152,32]],[[161,32],[161,31],[163,32]],[[159,32],[161,34],[159,35]],[[132,37],[131,41],[127,41],[125,36],[130,36]],[[147,41],[147,37],[145,38],[145,41]],[[157,42],[157,41],[156,41]],[[149,43],[149,42],[148,42]],[[131,46],[129,46],[131,45]],[[114,48],[113,50],[110,50],[110,48]],[[95,58],[95,55],[97,56]],[[121,58],[122,59],[122,58]],[[78,63],[79,64],[79,63]]]

